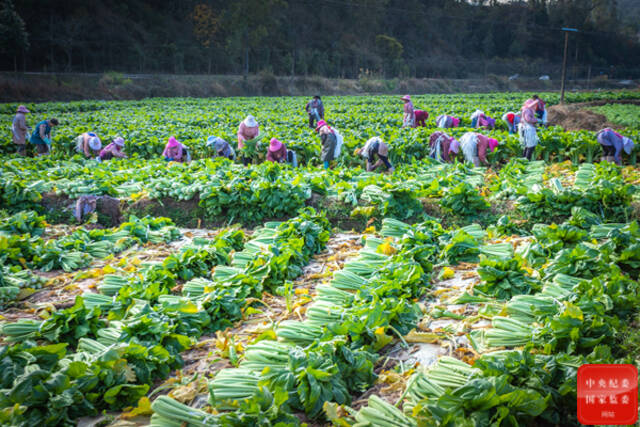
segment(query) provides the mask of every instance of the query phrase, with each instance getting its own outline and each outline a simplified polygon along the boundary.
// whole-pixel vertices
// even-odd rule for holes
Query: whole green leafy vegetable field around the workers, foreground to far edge
[[[397,98],[323,99],[346,144],[330,170],[303,99],[28,105],[61,126],[49,157],[0,141],[0,425],[579,425],[578,368],[640,360],[638,145],[619,167],[549,127],[529,162],[498,120],[491,167],[442,164],[435,117],[460,136],[525,95],[415,98],[426,128],[400,129]],[[619,107],[598,108],[640,142]],[[248,113],[302,165],[208,158]],[[74,156],[84,131],[130,158]],[[171,135],[191,163],[160,158]],[[353,154],[372,136],[393,173]],[[78,222],[83,195],[118,218]]]

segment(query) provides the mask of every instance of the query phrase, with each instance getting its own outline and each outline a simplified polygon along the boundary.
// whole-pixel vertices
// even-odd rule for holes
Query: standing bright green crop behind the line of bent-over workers
[[[400,129],[402,124],[402,103],[392,96],[351,96],[326,97],[326,118],[344,135],[349,153],[342,161],[352,164],[353,149],[362,146],[372,136],[381,136],[392,147],[392,161],[406,162],[427,154],[428,136],[435,130],[435,119],[439,114],[451,114],[462,118],[460,129],[453,133],[461,135],[469,126],[469,116],[476,109],[485,111],[497,119],[497,129],[491,135],[507,143],[498,159],[518,155],[519,143],[514,137],[508,138],[505,124],[500,120],[507,111],[517,111],[529,96],[523,93],[490,93],[472,95],[419,95],[414,96],[416,109],[430,113],[426,128]],[[557,102],[556,94],[541,94],[548,105]],[[600,92],[570,94],[571,102],[593,99],[640,98],[640,92]],[[236,145],[238,124],[247,114],[256,116],[261,125],[265,142],[277,137],[289,148],[298,151],[303,161],[317,161],[320,141],[307,127],[304,105],[307,99],[287,98],[213,98],[213,99],[148,99],[142,101],[82,101],[72,103],[33,104],[28,116],[33,126],[37,121],[57,117],[61,125],[54,130],[54,150],[66,156],[73,151],[72,140],[86,131],[95,131],[103,139],[121,135],[127,141],[127,152],[138,153],[142,157],[159,156],[169,136],[192,149],[193,157],[211,154],[205,149],[208,136],[216,135]],[[0,117],[9,124],[15,111],[15,104],[0,106]],[[540,156],[545,159],[589,157],[599,148],[593,133],[570,133],[554,129],[550,134],[543,132]],[[629,136],[636,138],[637,126],[629,129]],[[559,141],[561,146],[557,146]],[[0,141],[0,152],[13,152],[10,134]],[[551,146],[551,148],[545,148]],[[593,146],[589,150],[587,146]],[[263,146],[264,150],[264,146]],[[596,153],[597,154],[597,153]],[[587,160],[589,160],[587,158]]]

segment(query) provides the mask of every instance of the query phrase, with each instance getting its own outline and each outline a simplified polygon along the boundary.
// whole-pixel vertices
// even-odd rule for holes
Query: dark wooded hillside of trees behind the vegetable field
[[[0,65],[343,78],[557,74],[560,28],[574,27],[570,64],[637,77],[640,19],[625,11],[638,13],[629,0],[2,0]]]

